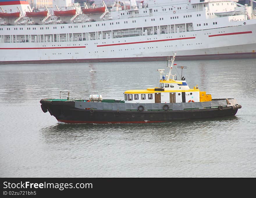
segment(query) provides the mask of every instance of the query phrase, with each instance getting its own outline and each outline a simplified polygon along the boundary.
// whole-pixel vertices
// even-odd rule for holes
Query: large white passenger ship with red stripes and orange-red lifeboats
[[[237,0],[34,10],[0,0],[0,64],[256,58],[255,13]]]

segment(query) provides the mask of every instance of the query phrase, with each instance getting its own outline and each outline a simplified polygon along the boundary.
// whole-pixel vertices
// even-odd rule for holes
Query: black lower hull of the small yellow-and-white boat
[[[214,117],[234,116],[241,105],[208,108],[196,110],[168,110],[168,111],[113,111],[78,109],[74,101],[46,102],[40,101],[51,115],[65,123],[151,123],[170,122],[186,119],[209,119]]]

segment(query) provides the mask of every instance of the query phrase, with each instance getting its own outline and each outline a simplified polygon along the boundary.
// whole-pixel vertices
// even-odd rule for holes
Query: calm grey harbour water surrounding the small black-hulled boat
[[[59,90],[123,99],[125,90],[158,85],[156,69],[166,69],[166,62],[0,65],[0,176],[255,177],[256,59],[176,63],[188,66],[183,74],[191,88],[238,99],[237,115],[161,124],[58,123],[42,112],[40,99],[58,98]]]

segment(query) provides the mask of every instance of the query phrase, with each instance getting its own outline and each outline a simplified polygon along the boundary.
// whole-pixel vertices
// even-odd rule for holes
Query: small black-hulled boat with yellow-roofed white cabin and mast
[[[184,77],[177,80],[176,74],[171,73],[176,65],[175,56],[176,53],[167,62],[170,68],[168,73],[164,73],[164,69],[157,69],[161,75],[158,87],[127,90],[124,92],[124,100],[102,99],[101,95],[90,95],[89,99],[82,99],[69,90],[60,91],[59,99],[40,100],[42,111],[49,111],[59,122],[95,124],[209,119],[234,116],[237,113],[242,106],[237,104],[236,99],[212,99],[211,94],[200,91],[198,86],[190,89]],[[67,98],[62,99],[63,94]]]

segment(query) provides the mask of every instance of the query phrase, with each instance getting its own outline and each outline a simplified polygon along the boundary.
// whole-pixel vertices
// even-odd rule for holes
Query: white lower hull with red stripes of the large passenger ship
[[[256,58],[256,22],[200,31],[65,42],[2,42],[0,64]],[[1,41],[1,38],[0,38]]]

